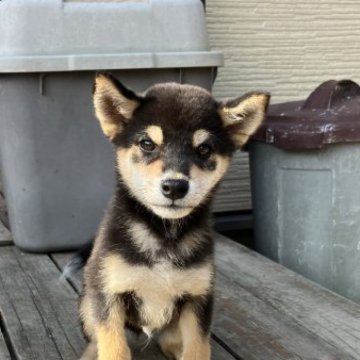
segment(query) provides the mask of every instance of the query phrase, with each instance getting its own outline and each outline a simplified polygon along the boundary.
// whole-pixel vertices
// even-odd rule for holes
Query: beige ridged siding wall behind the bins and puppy
[[[207,0],[207,19],[212,48],[225,54],[218,98],[262,89],[275,103],[304,98],[328,79],[360,80],[358,0]],[[246,155],[230,176],[241,176],[222,189],[230,207],[249,208]]]

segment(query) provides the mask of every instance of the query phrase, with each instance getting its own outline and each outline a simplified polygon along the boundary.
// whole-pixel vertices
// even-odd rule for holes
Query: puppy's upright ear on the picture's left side
[[[102,131],[114,140],[133,117],[141,98],[112,75],[99,73],[95,78],[93,101]]]

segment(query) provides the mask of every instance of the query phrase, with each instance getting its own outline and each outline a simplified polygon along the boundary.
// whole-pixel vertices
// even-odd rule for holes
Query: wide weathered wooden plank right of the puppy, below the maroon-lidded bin
[[[214,331],[244,359],[359,359],[360,306],[218,235]]]

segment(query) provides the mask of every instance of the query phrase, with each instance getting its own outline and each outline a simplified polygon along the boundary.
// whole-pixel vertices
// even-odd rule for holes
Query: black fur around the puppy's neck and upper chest
[[[151,256],[139,251],[133,244],[128,229],[123,226],[128,218],[143,222],[157,235],[161,242],[159,257],[166,257],[171,253],[176,255],[171,261],[178,267],[191,267],[200,265],[204,260],[213,254],[213,239],[211,235],[204,237],[203,243],[190,256],[178,254],[177,249],[181,246],[182,239],[196,228],[209,226],[210,204],[204,203],[195,209],[190,216],[183,219],[176,232],[171,233],[168,229],[172,226],[173,220],[161,219],[148,210],[139,201],[132,197],[124,185],[119,182],[107,218],[106,239],[104,251],[119,252],[129,263],[134,265],[147,265],[151,267],[157,261]]]

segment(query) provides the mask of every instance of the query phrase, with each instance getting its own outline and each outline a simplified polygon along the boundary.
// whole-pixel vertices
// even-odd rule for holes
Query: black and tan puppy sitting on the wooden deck
[[[96,77],[95,112],[114,144],[117,187],[85,268],[82,359],[130,360],[126,326],[156,333],[169,359],[210,359],[211,199],[268,101],[256,92],[218,103],[175,83],[137,95]]]

